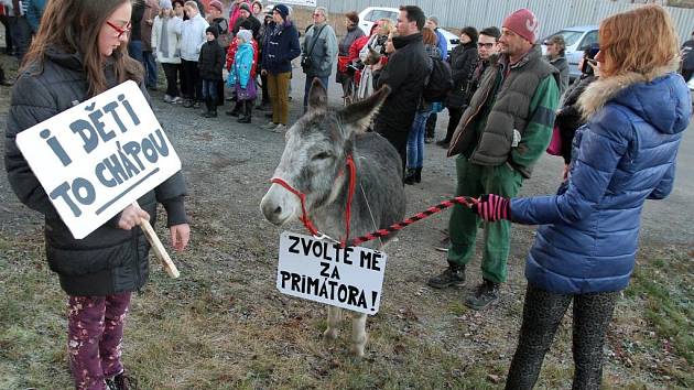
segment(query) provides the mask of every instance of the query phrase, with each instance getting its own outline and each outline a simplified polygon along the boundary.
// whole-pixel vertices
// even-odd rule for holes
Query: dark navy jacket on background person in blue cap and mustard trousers
[[[265,42],[262,46],[262,68],[275,75],[292,72],[292,59],[299,57],[299,31],[292,22],[284,22],[275,29],[275,23],[270,23],[265,32]]]

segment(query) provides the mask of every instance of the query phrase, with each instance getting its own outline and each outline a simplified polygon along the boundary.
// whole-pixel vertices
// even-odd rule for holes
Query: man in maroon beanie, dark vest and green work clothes
[[[494,58],[470,99],[451,141],[448,156],[456,156],[456,196],[499,194],[513,197],[547,148],[559,105],[559,74],[542,59],[535,44],[538,22],[527,9],[503,20],[498,58]],[[462,286],[465,266],[475,253],[481,220],[456,205],[448,230],[448,268],[429,281],[437,289]],[[511,223],[484,223],[482,283],[465,304],[481,310],[499,297],[507,279]]]

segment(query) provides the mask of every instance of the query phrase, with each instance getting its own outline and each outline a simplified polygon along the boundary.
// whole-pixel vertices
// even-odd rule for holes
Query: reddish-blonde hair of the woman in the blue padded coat
[[[672,20],[660,6],[649,4],[618,13],[600,23],[601,77],[627,72],[643,75],[665,66],[679,56]]]

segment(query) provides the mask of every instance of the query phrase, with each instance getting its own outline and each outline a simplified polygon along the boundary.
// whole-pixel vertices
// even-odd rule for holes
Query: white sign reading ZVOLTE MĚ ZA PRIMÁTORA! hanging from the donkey
[[[283,294],[365,314],[378,313],[387,254],[284,231],[276,288]]]

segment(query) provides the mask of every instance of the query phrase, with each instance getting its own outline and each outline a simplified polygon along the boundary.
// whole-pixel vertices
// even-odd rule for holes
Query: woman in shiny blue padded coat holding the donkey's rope
[[[633,40],[633,36],[638,36]],[[662,199],[692,111],[668,13],[647,6],[604,20],[600,78],[579,98],[570,175],[556,195],[482,196],[487,220],[540,225],[525,264],[523,324],[507,389],[534,386],[573,300],[574,389],[598,389],[615,302],[631,277],[646,199]]]

